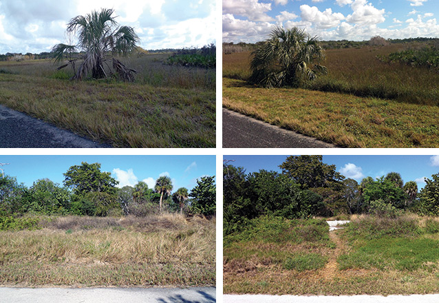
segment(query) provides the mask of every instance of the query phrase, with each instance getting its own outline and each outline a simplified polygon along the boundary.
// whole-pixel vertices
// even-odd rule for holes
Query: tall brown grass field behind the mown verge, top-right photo
[[[378,59],[378,56],[387,56],[409,47],[414,45],[394,43],[382,47],[326,50],[326,60],[322,64],[328,67],[328,75],[307,83],[306,88],[439,105],[439,73]],[[224,54],[223,76],[247,80],[250,76],[250,59],[250,52]]]

